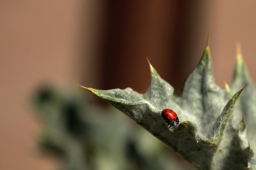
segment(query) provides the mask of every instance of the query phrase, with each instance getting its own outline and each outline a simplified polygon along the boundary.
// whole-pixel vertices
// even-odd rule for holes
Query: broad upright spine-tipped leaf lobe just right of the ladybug
[[[223,90],[214,81],[211,54],[207,46],[200,63],[186,80],[180,97],[180,106],[201,120],[198,127],[207,134],[213,125],[210,122],[216,120],[225,106],[223,96]]]

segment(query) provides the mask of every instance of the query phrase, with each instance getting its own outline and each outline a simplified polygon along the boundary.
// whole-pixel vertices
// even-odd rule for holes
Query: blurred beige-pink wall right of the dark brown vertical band
[[[256,1],[215,1],[212,3],[209,32],[216,82],[223,87],[232,79],[236,62],[236,42],[242,46],[243,58],[256,80]],[[254,81],[255,82],[255,81]]]

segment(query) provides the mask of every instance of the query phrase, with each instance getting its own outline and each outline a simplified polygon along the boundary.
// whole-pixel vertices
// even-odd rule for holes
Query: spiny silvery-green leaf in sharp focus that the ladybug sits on
[[[248,141],[241,135],[244,132],[239,130],[239,124],[235,124],[232,115],[243,89],[226,102],[225,92],[215,84],[212,76],[209,46],[186,80],[181,96],[173,95],[173,87],[159,76],[151,64],[150,75],[150,85],[145,94],[138,94],[130,88],[84,88],[124,112],[198,169],[253,167],[253,152],[247,152],[244,143],[248,144]],[[161,117],[165,108],[172,108],[178,113],[179,125],[173,124],[170,128],[166,125]],[[244,159],[236,160],[234,155],[230,155],[233,152],[244,155]],[[218,162],[221,165],[217,166]]]

